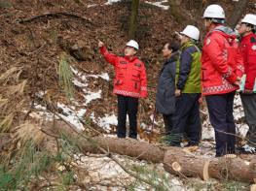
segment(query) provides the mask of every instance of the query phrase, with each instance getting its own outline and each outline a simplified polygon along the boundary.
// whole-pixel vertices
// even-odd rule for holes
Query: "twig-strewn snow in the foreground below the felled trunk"
[[[165,172],[163,168],[163,164],[151,165],[147,164],[144,161],[134,161],[130,160],[127,157],[115,155],[115,157],[121,162],[123,165],[131,167],[131,166],[139,166],[141,168],[146,168],[152,171],[158,171],[161,175],[165,175],[167,182],[160,177],[157,177],[159,182],[165,183],[165,186],[169,187],[170,191],[185,191],[186,185],[177,177],[173,175],[169,175]],[[79,168],[85,169],[86,172],[89,173],[90,178],[84,178],[85,183],[92,182],[100,182],[101,185],[95,186],[91,188],[91,190],[127,190],[126,186],[134,183],[134,177],[128,175],[116,162],[111,160],[108,157],[90,157],[90,156],[76,156],[79,162]],[[126,165],[127,164],[127,165]],[[140,174],[141,175],[141,174]],[[152,174],[153,175],[153,174]],[[156,176],[156,174],[154,174]],[[144,175],[142,175],[143,177]],[[146,179],[150,178],[150,175],[145,175]],[[156,177],[153,177],[155,179]],[[110,187],[102,186],[109,185]],[[111,185],[114,185],[111,186]],[[151,190],[147,185],[137,182],[134,190]]]

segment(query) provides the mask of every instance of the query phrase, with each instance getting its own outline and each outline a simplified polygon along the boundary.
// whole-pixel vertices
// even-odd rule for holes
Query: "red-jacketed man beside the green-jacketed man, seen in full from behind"
[[[243,63],[236,36],[223,25],[224,10],[219,5],[210,5],[204,11],[203,19],[207,34],[201,56],[202,95],[215,131],[216,157],[220,157],[235,153],[233,105]]]

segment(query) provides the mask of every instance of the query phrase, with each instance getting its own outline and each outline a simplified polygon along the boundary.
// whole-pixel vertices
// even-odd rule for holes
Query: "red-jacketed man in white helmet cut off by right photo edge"
[[[249,126],[247,143],[240,147],[242,153],[256,153],[256,16],[248,14],[241,19],[238,33],[241,37],[239,49],[243,57],[245,85],[241,102]],[[253,91],[254,89],[254,91]]]

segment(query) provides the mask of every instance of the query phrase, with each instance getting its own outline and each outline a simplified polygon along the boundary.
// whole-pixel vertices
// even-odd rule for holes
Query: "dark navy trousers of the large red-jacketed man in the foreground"
[[[235,153],[234,97],[235,92],[205,96],[210,123],[215,131],[216,156]]]

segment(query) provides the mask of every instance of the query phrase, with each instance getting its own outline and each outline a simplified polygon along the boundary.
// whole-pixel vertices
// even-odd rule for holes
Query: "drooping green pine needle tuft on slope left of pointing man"
[[[60,55],[58,64],[58,78],[60,85],[63,86],[64,92],[68,99],[73,98],[73,73],[69,63],[72,62],[71,57],[68,57],[66,53]]]

